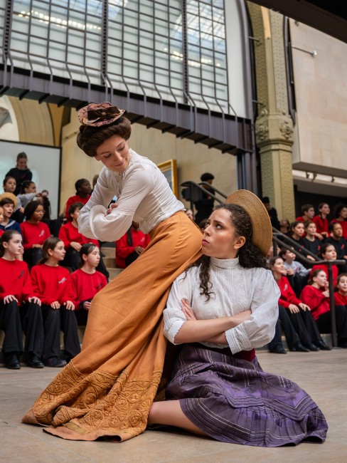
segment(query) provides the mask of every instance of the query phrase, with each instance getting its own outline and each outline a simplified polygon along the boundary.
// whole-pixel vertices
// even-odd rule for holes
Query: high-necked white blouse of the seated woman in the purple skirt
[[[237,259],[210,259],[210,300],[201,296],[199,267],[192,267],[173,281],[164,310],[164,335],[174,344],[175,336],[186,321],[181,299],[188,299],[197,319],[233,316],[250,309],[250,320],[225,331],[232,353],[260,348],[274,337],[278,318],[279,287],[272,272],[244,269]],[[185,277],[186,276],[186,277]],[[225,348],[223,344],[201,343]]]

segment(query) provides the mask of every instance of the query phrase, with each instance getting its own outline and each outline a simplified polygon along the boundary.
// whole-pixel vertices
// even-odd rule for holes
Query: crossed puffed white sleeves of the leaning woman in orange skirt
[[[118,207],[105,216],[106,207],[110,204],[114,192],[110,191],[110,185],[107,184],[106,172],[104,175],[100,174],[100,177],[92,197],[80,210],[78,229],[88,238],[116,241],[131,227],[137,207],[154,187],[154,179],[144,166],[134,167],[124,179]]]

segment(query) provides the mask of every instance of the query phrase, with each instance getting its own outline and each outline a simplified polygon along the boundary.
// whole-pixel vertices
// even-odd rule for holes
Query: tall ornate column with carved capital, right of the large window
[[[295,217],[292,178],[293,122],[289,115],[283,16],[247,2],[255,42],[259,115],[255,139],[260,150],[262,194],[278,217]]]

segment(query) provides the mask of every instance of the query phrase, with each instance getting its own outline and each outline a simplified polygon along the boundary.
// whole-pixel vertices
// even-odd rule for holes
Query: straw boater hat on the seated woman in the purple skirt
[[[225,199],[226,204],[237,204],[245,209],[252,222],[252,243],[267,256],[272,243],[272,225],[269,214],[260,199],[247,189],[239,189]]]

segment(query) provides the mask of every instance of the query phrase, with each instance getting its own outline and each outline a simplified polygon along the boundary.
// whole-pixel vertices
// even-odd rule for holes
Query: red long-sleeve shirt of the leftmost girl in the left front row
[[[23,261],[7,261],[0,258],[0,300],[12,294],[18,299],[18,303],[28,301],[35,295],[28,264]]]

